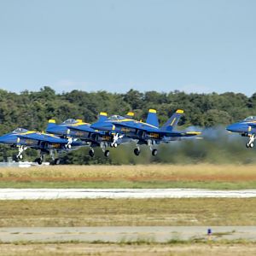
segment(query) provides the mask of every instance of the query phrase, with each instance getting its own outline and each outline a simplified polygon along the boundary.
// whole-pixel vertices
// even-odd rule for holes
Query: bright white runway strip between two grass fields
[[[83,198],[250,198],[256,189],[0,189],[0,200]]]

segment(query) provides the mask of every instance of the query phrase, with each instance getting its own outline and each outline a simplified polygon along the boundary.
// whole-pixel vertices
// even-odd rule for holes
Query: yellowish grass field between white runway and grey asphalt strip
[[[0,201],[1,227],[256,225],[256,199]]]

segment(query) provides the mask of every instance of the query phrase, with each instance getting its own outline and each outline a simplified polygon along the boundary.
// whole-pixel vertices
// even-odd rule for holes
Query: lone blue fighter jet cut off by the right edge
[[[241,122],[237,122],[226,127],[227,131],[237,132],[242,137],[249,137],[247,148],[253,148],[253,142],[256,134],[256,116],[249,116]]]

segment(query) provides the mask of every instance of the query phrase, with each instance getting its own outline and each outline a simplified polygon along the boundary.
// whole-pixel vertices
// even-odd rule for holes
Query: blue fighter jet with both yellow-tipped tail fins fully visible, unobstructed
[[[146,122],[127,119],[119,115],[113,115],[103,122],[97,122],[90,127],[100,131],[114,131],[116,138],[119,136],[130,137],[137,140],[137,148],[134,154],[140,154],[140,145],[146,144],[150,148],[152,155],[157,154],[154,145],[160,143],[170,143],[181,140],[185,137],[196,137],[201,134],[199,131],[175,131],[174,128],[183,114],[183,110],[178,109],[176,113],[167,120],[166,124],[159,127],[159,121],[154,109],[148,110]],[[115,141],[113,141],[115,143]]]

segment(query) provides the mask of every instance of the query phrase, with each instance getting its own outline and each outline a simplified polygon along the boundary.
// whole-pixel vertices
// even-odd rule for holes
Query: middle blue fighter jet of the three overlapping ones
[[[133,113],[127,113],[126,116],[132,117]],[[101,112],[99,114],[98,122],[102,123],[107,119],[107,113]],[[97,131],[91,128],[90,124],[84,123],[81,119],[67,119],[58,125],[55,124],[54,119],[49,119],[46,131],[62,138],[66,138],[68,143],[72,143],[76,138],[89,143],[89,154],[91,157],[94,156],[94,148],[96,147],[102,148],[104,155],[108,157],[110,152],[106,149],[107,147],[116,148],[121,143],[128,143],[131,141],[131,139],[127,139],[123,136],[115,139],[116,136],[112,131]],[[115,143],[113,143],[113,140]]]

